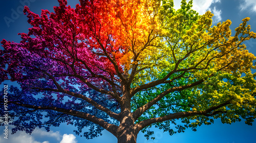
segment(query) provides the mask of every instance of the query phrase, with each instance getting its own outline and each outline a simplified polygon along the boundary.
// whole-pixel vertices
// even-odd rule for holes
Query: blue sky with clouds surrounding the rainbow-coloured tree
[[[181,0],[180,0],[181,1]],[[179,8],[180,1],[175,1],[175,8]],[[21,3],[20,3],[21,2]],[[24,3],[23,3],[24,2]],[[78,0],[68,1],[68,5],[74,7],[78,3]],[[1,1],[0,9],[0,39],[6,39],[14,42],[19,42],[20,37],[17,33],[27,33],[29,24],[27,23],[26,15],[22,14],[23,5],[27,5],[31,11],[40,14],[41,9],[48,9],[53,11],[53,6],[58,6],[57,0],[10,0]],[[194,7],[200,14],[210,10],[215,14],[214,25],[218,22],[230,19],[232,21],[231,30],[234,31],[239,26],[242,19],[250,17],[249,24],[252,31],[256,31],[256,1],[254,0],[240,0],[240,1],[227,1],[227,0],[197,0],[194,1]],[[11,19],[11,22],[6,22],[6,19]],[[256,55],[256,40],[250,40],[245,43],[249,52]],[[3,49],[1,47],[1,49]],[[255,71],[254,71],[255,72]],[[11,85],[10,82],[5,82]],[[0,85],[3,87],[3,84]],[[155,131],[155,140],[146,140],[142,133],[139,133],[138,143],[182,143],[182,142],[220,142],[220,143],[238,143],[238,142],[255,142],[256,134],[256,122],[253,126],[248,126],[241,121],[231,125],[224,125],[220,120],[216,120],[215,124],[209,126],[201,126],[197,128],[197,131],[191,131],[187,129],[184,133],[178,133],[173,136],[169,136],[168,133],[163,133],[158,129],[151,129]],[[87,140],[84,137],[76,136],[73,130],[76,127],[68,126],[66,124],[60,127],[51,128],[50,132],[46,132],[43,129],[36,129],[31,135],[24,132],[18,132],[14,135],[9,134],[9,139],[5,139],[3,135],[3,127],[0,127],[0,142],[5,143],[97,143],[97,142],[117,142],[117,139],[109,132],[103,131],[103,135],[94,139]],[[9,126],[9,130],[11,127]]]

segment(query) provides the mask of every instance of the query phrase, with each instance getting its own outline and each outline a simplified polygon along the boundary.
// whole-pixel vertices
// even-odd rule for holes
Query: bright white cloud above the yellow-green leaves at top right
[[[177,10],[180,8],[181,5],[181,0],[174,0],[174,8]],[[188,2],[188,0],[187,0]],[[213,14],[214,17],[212,17],[214,19],[214,23],[219,22],[222,18],[221,18],[221,10],[216,9],[216,7],[214,7],[213,10],[210,9],[211,4],[214,3],[220,3],[221,0],[194,0],[193,1],[193,7],[192,9],[196,10],[200,15],[204,14],[206,11],[210,10]]]

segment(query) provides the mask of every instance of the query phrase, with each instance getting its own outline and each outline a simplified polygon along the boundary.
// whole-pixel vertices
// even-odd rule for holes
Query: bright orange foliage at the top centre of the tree
[[[101,43],[108,41],[114,57],[130,68],[132,58],[141,53],[147,46],[154,42],[160,30],[158,20],[158,7],[160,1],[107,1],[99,13],[100,31],[96,38]],[[108,37],[111,35],[111,37]],[[105,40],[104,40],[105,39]],[[108,40],[106,40],[108,39]],[[156,42],[155,42],[156,43]],[[114,53],[114,54],[113,54]],[[118,54],[117,54],[118,53]],[[140,57],[140,56],[139,56]],[[130,65],[129,65],[130,64]]]

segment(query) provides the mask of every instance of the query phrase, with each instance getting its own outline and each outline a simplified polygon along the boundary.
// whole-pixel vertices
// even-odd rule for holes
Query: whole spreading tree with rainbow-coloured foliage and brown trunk
[[[253,122],[255,56],[243,44],[256,38],[249,18],[231,36],[230,20],[212,27],[213,14],[198,15],[191,1],[177,11],[164,0],[66,5],[59,0],[41,16],[25,7],[28,34],[1,42],[1,82],[20,85],[8,93],[13,133],[68,123],[87,138],[106,129],[118,142],[136,142],[152,126],[172,135],[215,118]]]

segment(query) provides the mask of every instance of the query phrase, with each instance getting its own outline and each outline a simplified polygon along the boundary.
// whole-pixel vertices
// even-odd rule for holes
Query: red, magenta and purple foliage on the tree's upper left
[[[7,72],[23,85],[34,72],[48,78],[59,77],[56,80],[66,81],[68,77],[76,84],[86,85],[79,81],[80,76],[99,88],[110,86],[104,78],[112,82],[119,80],[116,75],[123,72],[119,63],[122,54],[115,45],[114,31],[109,28],[111,1],[81,1],[76,9],[66,5],[67,1],[59,0],[54,13],[42,10],[40,16],[25,7],[24,13],[32,28],[28,34],[19,34],[20,43],[2,41],[5,48],[2,66],[8,64],[8,71],[2,73]],[[53,79],[48,82],[55,84]]]

